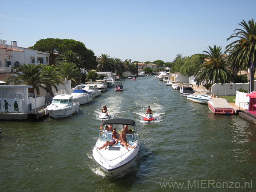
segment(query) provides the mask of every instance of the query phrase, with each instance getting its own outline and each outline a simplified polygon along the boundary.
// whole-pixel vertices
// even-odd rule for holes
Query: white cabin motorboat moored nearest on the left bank
[[[53,118],[63,118],[72,115],[73,113],[79,113],[80,103],[74,103],[72,101],[73,96],[68,94],[57,95],[53,97],[52,103],[47,103],[46,111]]]

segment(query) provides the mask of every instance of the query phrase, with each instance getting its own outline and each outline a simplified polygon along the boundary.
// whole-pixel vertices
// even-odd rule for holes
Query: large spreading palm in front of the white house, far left
[[[34,89],[37,94],[40,94],[40,88],[45,89],[48,93],[52,94],[52,86],[57,90],[55,85],[56,81],[54,77],[44,76],[42,73],[42,64],[23,64],[17,68],[19,72],[10,72],[8,74],[16,74],[17,76],[11,76],[7,78],[6,84],[13,85],[31,85],[32,88],[28,88],[28,93],[34,93]]]

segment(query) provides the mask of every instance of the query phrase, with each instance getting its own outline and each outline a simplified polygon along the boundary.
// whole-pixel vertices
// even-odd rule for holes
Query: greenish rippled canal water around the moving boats
[[[154,76],[123,79],[81,113],[38,122],[1,121],[0,191],[255,191],[256,126],[219,116]],[[134,166],[106,175],[93,159],[100,109],[136,121]],[[156,121],[143,116],[151,106]]]

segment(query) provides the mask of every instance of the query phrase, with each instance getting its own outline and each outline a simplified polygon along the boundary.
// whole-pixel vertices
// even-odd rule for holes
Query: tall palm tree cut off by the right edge
[[[238,38],[226,47],[230,50],[228,62],[231,63],[231,69],[238,72],[239,70],[248,70],[248,68],[251,68],[252,60],[253,68],[251,68],[250,90],[253,91],[256,68],[256,23],[254,23],[253,19],[249,20],[248,23],[243,20],[239,25],[243,29],[234,30],[234,32],[237,32],[227,39]]]

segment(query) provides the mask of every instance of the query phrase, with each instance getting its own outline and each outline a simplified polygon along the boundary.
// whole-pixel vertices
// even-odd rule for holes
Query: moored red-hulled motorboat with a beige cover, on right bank
[[[234,114],[234,109],[223,98],[211,98],[208,102],[208,108],[214,114]]]

